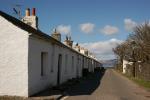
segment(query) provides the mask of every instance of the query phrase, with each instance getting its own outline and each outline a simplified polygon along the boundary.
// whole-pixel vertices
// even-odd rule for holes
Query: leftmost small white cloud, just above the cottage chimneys
[[[59,25],[57,27],[57,31],[61,34],[69,34],[71,33],[71,26],[70,25]]]

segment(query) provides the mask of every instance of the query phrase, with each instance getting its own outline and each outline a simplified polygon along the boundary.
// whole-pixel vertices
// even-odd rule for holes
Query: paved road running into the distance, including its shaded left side
[[[65,100],[150,100],[149,92],[112,69],[89,77],[67,93]]]

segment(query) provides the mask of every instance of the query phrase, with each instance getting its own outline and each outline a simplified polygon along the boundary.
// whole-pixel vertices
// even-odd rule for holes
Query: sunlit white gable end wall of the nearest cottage
[[[28,96],[28,33],[1,16],[0,95]]]

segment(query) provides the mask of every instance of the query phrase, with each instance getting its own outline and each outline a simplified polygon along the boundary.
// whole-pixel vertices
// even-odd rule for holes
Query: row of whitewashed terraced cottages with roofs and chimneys
[[[0,11],[0,95],[28,97],[97,67],[98,60],[73,46],[71,37],[61,43],[56,30],[52,36],[41,32],[35,8],[22,20]]]

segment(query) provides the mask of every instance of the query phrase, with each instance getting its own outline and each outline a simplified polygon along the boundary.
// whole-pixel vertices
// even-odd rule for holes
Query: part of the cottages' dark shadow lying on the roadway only
[[[105,74],[105,69],[103,71],[96,71],[88,75],[84,80],[78,84],[70,87],[67,90],[67,95],[90,95],[92,94],[101,84],[101,79]]]

